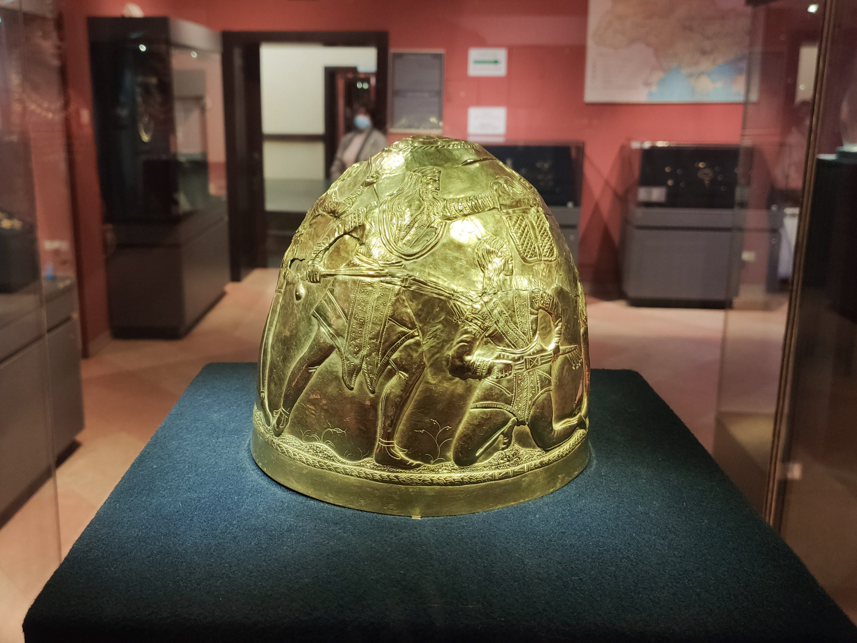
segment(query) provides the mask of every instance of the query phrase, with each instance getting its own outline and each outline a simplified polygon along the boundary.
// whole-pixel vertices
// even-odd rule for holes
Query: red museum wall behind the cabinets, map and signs
[[[120,15],[126,0],[64,0],[72,141],[87,342],[108,330],[101,211],[91,118],[87,15]],[[444,134],[464,138],[467,107],[506,105],[510,140],[586,144],[579,268],[586,282],[619,280],[618,244],[628,172],[627,141],[736,142],[738,104],[584,103],[587,0],[137,0],[146,15],[170,15],[217,31],[381,30],[392,49],[446,52]],[[508,47],[504,78],[470,78],[467,49]],[[81,110],[84,110],[81,112]],[[391,137],[393,140],[393,137]]]

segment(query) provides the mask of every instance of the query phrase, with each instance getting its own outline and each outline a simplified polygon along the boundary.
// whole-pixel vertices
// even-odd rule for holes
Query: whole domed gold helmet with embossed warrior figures
[[[283,258],[251,449],[308,496],[450,515],[559,489],[589,460],[586,304],[559,227],[476,143],[352,165]]]

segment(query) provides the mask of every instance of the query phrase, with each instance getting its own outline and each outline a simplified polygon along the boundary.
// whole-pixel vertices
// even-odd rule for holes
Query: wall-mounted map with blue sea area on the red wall
[[[744,0],[590,0],[587,103],[744,99]]]

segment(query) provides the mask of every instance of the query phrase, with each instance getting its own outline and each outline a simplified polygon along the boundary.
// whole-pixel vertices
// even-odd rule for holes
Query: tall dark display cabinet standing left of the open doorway
[[[229,281],[220,35],[87,19],[115,337],[177,338]]]

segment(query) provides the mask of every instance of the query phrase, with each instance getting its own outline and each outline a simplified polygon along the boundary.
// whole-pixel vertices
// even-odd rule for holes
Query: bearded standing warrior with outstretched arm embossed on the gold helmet
[[[369,221],[367,208],[354,209],[354,204],[376,180],[377,175],[372,174],[352,195],[341,201],[328,196],[314,208],[333,216],[327,234],[315,243],[307,271],[311,282],[325,280],[327,290],[312,313],[318,329],[291,370],[279,410],[273,412],[274,432],[280,435],[285,430],[291,408],[315,369],[336,351],[349,390],[354,390],[357,376],[363,373],[369,392],[382,392],[375,461],[415,468],[422,463],[402,454],[395,434],[402,408],[423,373],[423,350],[413,312],[402,288],[384,280],[385,276],[392,277],[385,267],[425,255],[438,243],[447,222],[496,207],[496,201],[488,192],[459,199],[440,198],[440,169],[421,168],[405,175],[399,189],[381,200],[377,219]],[[312,211],[309,214],[315,215]],[[383,247],[363,246],[351,267],[326,272],[325,257],[333,245],[342,237],[363,234],[365,226],[372,224],[380,229],[377,238]],[[363,267],[369,272],[361,274]],[[289,273],[299,281],[297,273]]]

